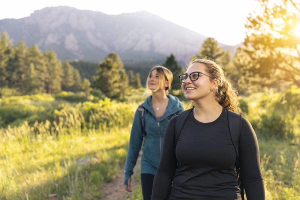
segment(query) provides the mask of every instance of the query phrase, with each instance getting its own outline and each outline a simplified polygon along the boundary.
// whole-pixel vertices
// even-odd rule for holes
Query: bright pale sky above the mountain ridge
[[[0,19],[22,18],[34,10],[67,5],[106,14],[149,11],[160,17],[235,45],[243,41],[246,17],[255,8],[255,0],[7,0],[1,3]]]

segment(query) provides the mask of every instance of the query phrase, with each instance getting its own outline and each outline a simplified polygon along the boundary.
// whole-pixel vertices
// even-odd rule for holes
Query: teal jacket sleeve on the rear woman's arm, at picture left
[[[138,110],[136,109],[134,117],[133,117],[133,123],[131,127],[130,132],[130,139],[129,139],[129,146],[126,156],[126,162],[124,166],[124,184],[127,184],[128,178],[133,174],[133,168],[136,164],[136,160],[138,157],[138,153],[142,144],[142,127],[141,127],[141,121],[139,118]]]

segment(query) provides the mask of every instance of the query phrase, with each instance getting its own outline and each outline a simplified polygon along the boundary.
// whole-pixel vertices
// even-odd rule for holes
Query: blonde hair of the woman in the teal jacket
[[[153,66],[147,76],[147,80],[146,80],[146,91],[145,93],[147,93],[147,91],[149,91],[149,78],[150,78],[150,74],[151,72],[156,69],[157,73],[158,73],[158,84],[159,84],[159,87],[162,87],[164,85],[164,81],[167,80],[169,82],[169,85],[167,87],[165,87],[165,92],[168,93],[169,90],[171,89],[171,82],[173,80],[173,74],[172,72],[164,67],[164,66],[160,66],[160,65],[157,65],[157,66]],[[157,87],[157,89],[159,88]]]

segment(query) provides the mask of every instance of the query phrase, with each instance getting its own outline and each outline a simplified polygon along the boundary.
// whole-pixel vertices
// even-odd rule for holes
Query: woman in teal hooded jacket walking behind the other
[[[173,79],[172,72],[163,66],[154,66],[147,77],[147,88],[152,95],[148,96],[138,109],[143,109],[145,136],[142,136],[143,126],[141,111],[136,109],[128,146],[124,169],[124,188],[131,189],[131,175],[136,164],[139,150],[141,155],[141,187],[143,199],[151,198],[152,183],[159,163],[162,150],[164,131],[169,119],[183,111],[179,99],[168,94]]]

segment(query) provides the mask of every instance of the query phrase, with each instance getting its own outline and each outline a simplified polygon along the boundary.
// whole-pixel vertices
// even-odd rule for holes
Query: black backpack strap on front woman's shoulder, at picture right
[[[236,168],[236,175],[238,177],[238,184],[240,188],[240,196],[241,199],[244,199],[244,191],[243,191],[243,184],[240,179],[240,166],[239,166],[239,138],[240,138],[240,132],[241,132],[241,115],[235,112],[232,112],[230,110],[226,110],[227,112],[227,120],[228,120],[228,128],[229,128],[229,134],[230,139],[233,144],[236,159],[235,159],[235,168]]]

